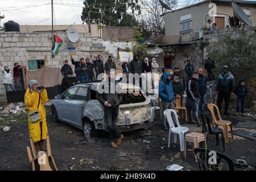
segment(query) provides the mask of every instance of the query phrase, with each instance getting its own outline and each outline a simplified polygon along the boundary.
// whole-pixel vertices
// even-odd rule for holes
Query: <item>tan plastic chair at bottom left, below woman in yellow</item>
[[[32,166],[32,171],[35,171],[35,166],[37,164],[40,167],[40,171],[53,171],[50,166],[50,162],[53,163],[55,170],[58,171],[57,166],[55,164],[55,160],[52,156],[51,146],[49,143],[49,135],[47,135],[46,137],[46,142],[47,142],[47,152],[39,151],[38,154],[36,154],[34,142],[32,138],[30,138],[32,154],[31,154],[30,147],[28,146],[27,146],[27,154],[28,154],[28,159],[30,160],[30,163]]]

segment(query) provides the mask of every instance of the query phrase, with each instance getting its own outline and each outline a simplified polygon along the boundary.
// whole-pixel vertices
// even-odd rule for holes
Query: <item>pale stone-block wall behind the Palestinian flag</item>
[[[44,55],[47,56],[47,67],[61,68],[64,60],[69,60],[71,57],[79,60],[80,57],[91,57],[94,60],[98,54],[102,55],[104,60],[108,59],[108,52],[105,50],[91,49],[92,39],[89,33],[79,33],[79,42],[72,43],[64,31],[55,32],[63,40],[63,45],[60,47],[60,52],[52,58],[52,33],[20,33],[20,32],[0,32],[0,63],[3,66],[8,65],[13,71],[14,63],[20,65],[28,65],[28,60],[42,60]],[[76,47],[75,51],[68,51],[67,47]],[[72,65],[72,68],[75,67]],[[2,84],[2,72],[0,73],[0,96],[5,94]]]

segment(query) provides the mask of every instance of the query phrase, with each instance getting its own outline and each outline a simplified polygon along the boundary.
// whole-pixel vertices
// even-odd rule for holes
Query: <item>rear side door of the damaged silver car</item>
[[[79,86],[79,89],[76,92],[75,97],[69,103],[69,112],[71,113],[70,122],[74,126],[82,129],[82,113],[84,111],[84,106],[87,102],[87,86]]]

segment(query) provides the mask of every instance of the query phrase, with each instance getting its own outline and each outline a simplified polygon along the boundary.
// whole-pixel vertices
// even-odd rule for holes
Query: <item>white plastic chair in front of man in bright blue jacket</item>
[[[174,121],[172,121],[171,115],[174,115],[175,121],[177,123],[177,127],[175,127]],[[166,117],[170,126],[169,137],[168,137],[168,148],[170,147],[171,133],[174,133],[174,143],[177,142],[176,135],[178,134],[180,139],[180,151],[184,151],[184,134],[189,131],[188,128],[180,126],[179,119],[177,118],[177,113],[173,109],[164,110],[164,117]]]

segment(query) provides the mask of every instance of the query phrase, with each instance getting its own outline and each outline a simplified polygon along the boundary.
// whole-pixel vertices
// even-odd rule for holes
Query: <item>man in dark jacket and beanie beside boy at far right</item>
[[[229,72],[228,66],[224,66],[222,68],[222,73],[218,76],[218,81],[216,85],[216,93],[218,95],[217,98],[217,106],[218,110],[221,111],[221,102],[225,101],[225,115],[229,115],[228,107],[229,107],[229,96],[234,95],[234,90],[236,89],[236,82],[234,80],[234,76],[231,72]]]

